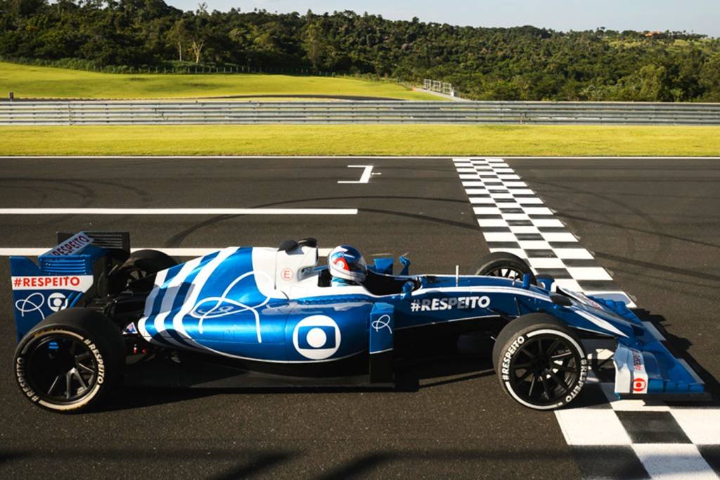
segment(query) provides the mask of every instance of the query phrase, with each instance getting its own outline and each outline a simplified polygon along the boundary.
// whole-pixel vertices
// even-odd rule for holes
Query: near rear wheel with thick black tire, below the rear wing
[[[106,316],[68,308],[48,316],[15,350],[22,394],[52,412],[86,412],[122,380],[125,341]]]

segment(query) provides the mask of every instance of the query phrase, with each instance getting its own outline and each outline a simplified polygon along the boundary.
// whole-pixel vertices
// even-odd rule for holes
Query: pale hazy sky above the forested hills
[[[354,10],[389,19],[418,17],[423,22],[512,27],[535,25],[554,30],[687,30],[720,37],[720,0],[205,0],[210,10],[254,8],[269,12],[323,13]],[[166,0],[196,9],[198,0]]]

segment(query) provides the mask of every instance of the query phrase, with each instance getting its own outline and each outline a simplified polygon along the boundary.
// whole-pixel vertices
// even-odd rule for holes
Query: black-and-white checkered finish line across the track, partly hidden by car
[[[503,159],[454,163],[490,252],[516,254],[562,288],[635,306]],[[653,324],[643,324],[664,340]],[[593,355],[603,353],[612,355]],[[555,416],[585,478],[718,478],[720,409],[618,400],[614,383],[595,373],[575,404]]]

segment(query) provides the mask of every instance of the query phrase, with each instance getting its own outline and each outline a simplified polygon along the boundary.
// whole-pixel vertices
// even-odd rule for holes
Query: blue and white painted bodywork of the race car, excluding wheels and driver
[[[59,294],[59,308],[77,303],[103,250],[88,245],[63,257],[41,256],[39,267],[30,259],[11,258],[16,287],[24,285],[24,277],[62,275],[84,282],[71,290],[53,288],[55,280],[40,282],[50,288],[16,289],[19,338],[57,311],[51,295]],[[369,282],[373,277],[390,282],[392,291],[372,293],[372,285],[321,285],[323,267],[317,261],[318,250],[309,247],[294,252],[233,247],[193,259],[158,272],[143,316],[132,326],[148,342],[165,347],[304,364],[392,352],[395,332],[402,329],[546,312],[581,336],[588,332],[616,340],[618,394],[703,394],[697,375],[624,303],[564,292],[570,302],[563,305],[553,301],[557,294],[546,279],[530,285],[500,277],[410,276],[409,262],[402,257],[404,268],[397,276],[391,275],[392,259],[375,261]]]

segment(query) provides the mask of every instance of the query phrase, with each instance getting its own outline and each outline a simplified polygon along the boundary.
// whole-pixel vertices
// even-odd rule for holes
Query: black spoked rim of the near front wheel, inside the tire
[[[580,363],[570,340],[553,334],[529,337],[510,362],[510,386],[529,404],[557,404],[575,388]]]

